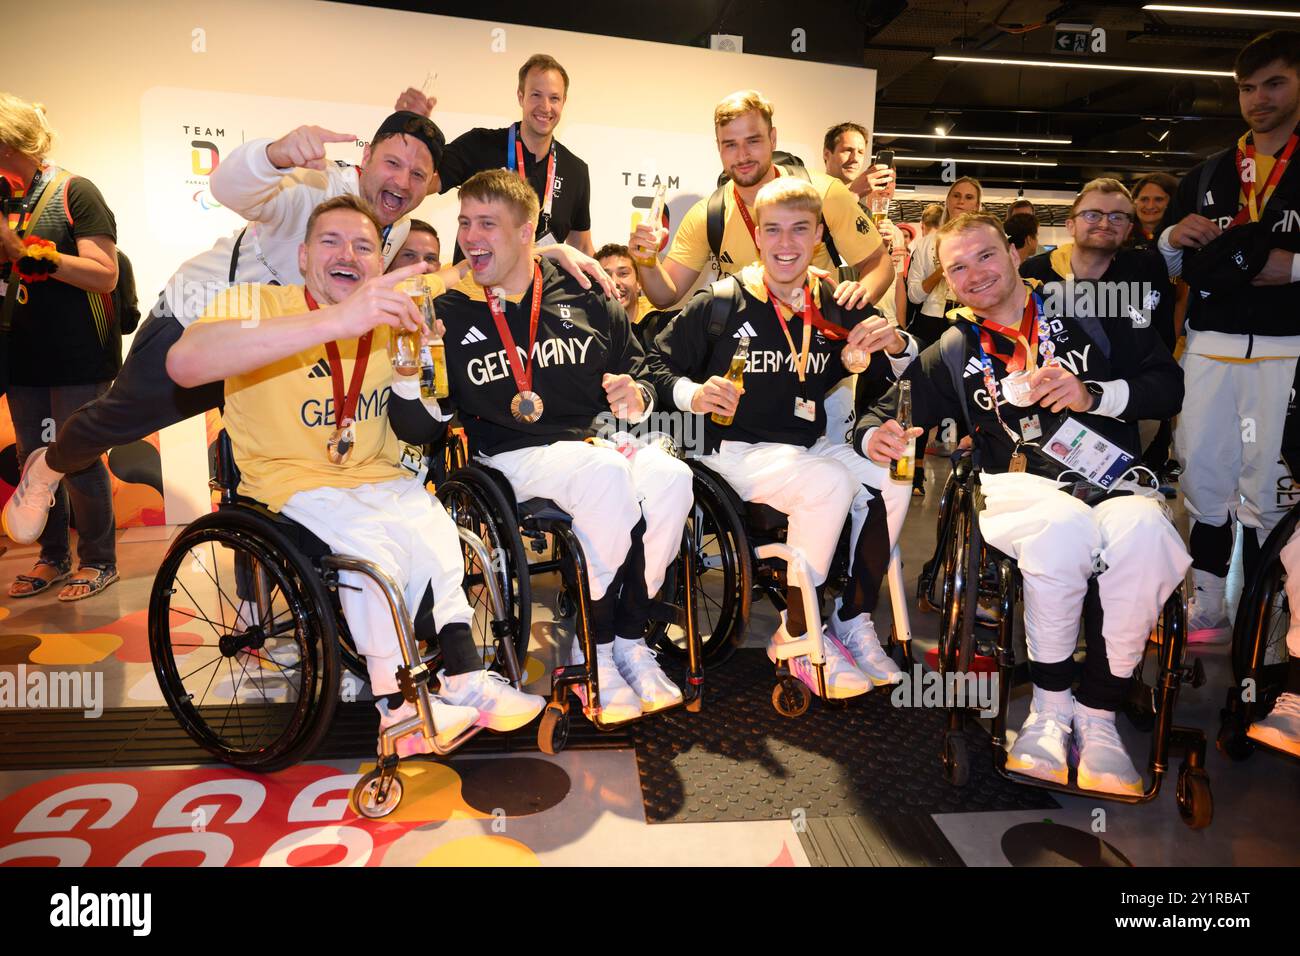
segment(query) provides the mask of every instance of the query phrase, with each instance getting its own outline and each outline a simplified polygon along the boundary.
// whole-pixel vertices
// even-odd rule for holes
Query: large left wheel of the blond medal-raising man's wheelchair
[[[686,524],[689,555],[668,566],[659,600],[685,606],[685,570],[689,557],[696,574],[696,627],[705,663],[725,661],[745,636],[754,568],[749,538],[740,516],[718,483],[696,472],[696,502]],[[651,620],[649,643],[670,658],[686,659],[686,631],[664,620]]]

